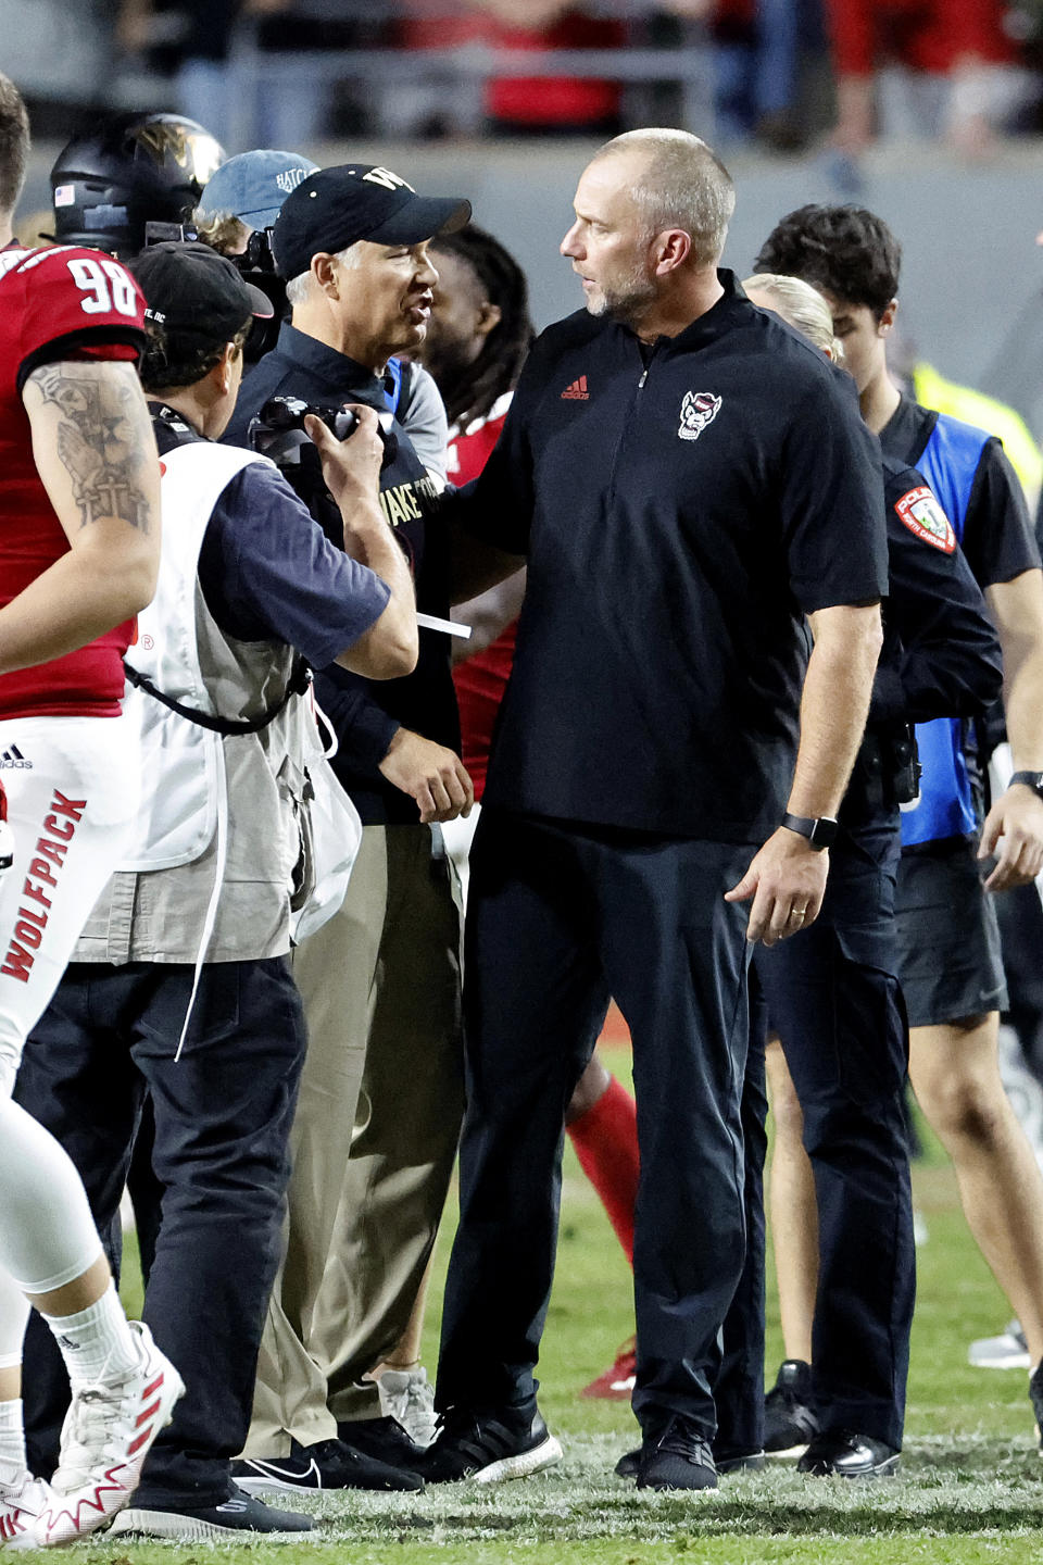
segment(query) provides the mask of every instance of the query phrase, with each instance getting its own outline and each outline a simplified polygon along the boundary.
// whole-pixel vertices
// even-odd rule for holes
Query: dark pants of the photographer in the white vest
[[[144,1319],[186,1385],[145,1462],[139,1504],[228,1498],[250,1424],[278,1260],[286,1146],[305,1053],[283,958],[203,969],[175,1060],[192,969],[73,962],[25,1049],[16,1097],[69,1152],[100,1233],[111,1235],[145,1092],[155,1111],[161,1224]],[[69,1401],[50,1332],[33,1316],[25,1424],[50,1471]]]

